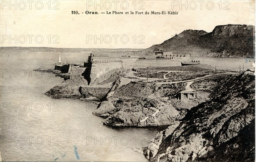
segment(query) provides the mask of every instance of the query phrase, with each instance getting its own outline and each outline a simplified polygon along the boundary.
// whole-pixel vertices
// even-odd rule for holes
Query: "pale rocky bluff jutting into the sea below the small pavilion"
[[[198,98],[189,105],[176,97],[186,83],[145,84],[129,83],[119,86],[117,80],[93,114],[108,117],[108,126],[168,126],[186,115],[187,110],[209,100],[209,93],[198,92]]]

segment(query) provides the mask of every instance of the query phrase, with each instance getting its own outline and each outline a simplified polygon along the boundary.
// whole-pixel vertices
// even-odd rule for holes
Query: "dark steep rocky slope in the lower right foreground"
[[[214,94],[214,93],[213,93]],[[254,161],[255,76],[230,76],[218,95],[151,140],[151,161]]]

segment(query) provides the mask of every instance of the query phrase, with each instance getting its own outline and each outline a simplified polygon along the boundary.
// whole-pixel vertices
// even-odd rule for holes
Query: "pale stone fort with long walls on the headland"
[[[173,53],[156,53],[155,56],[110,57],[108,54],[90,54],[84,65],[71,65],[68,72],[70,79],[83,76],[91,85],[96,80],[107,79],[111,73],[119,70],[131,70],[138,67],[168,67],[181,66],[181,61],[188,60],[189,55],[174,55]],[[71,70],[70,70],[71,69]],[[98,79],[99,80],[99,79]]]

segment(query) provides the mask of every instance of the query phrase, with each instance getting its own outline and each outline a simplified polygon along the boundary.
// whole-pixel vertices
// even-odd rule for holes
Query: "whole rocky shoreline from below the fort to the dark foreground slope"
[[[243,139],[246,133],[255,136],[254,129],[250,129],[254,128],[255,120],[254,75],[245,72],[193,82],[190,87],[196,89],[197,97],[182,102],[178,95],[185,89],[186,82],[127,82],[129,78],[125,80],[117,74],[96,79],[97,83],[91,86],[85,79],[67,79],[46,95],[94,98],[100,103],[93,115],[102,117],[102,123],[110,127],[168,126],[144,149],[150,161],[254,159],[250,156],[254,155],[254,138]],[[226,152],[230,156],[225,155]]]

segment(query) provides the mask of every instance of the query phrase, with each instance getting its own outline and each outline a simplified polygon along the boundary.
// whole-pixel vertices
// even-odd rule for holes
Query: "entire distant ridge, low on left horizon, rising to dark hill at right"
[[[174,54],[203,57],[255,58],[254,25],[218,25],[212,32],[184,30],[159,45],[146,49],[112,48],[56,48],[56,47],[0,47],[0,51],[30,51],[57,53],[115,53],[116,55],[154,55],[155,50]],[[122,53],[122,54],[120,54]]]

